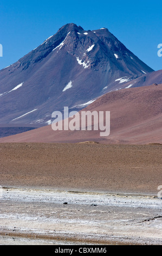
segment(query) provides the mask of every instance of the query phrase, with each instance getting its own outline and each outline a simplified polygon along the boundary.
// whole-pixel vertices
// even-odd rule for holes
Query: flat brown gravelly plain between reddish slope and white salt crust
[[[3,187],[157,195],[161,145],[0,144]]]

